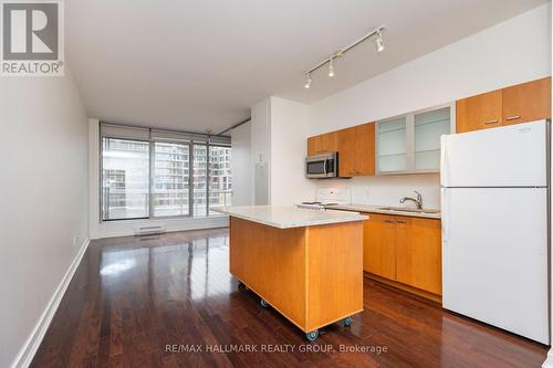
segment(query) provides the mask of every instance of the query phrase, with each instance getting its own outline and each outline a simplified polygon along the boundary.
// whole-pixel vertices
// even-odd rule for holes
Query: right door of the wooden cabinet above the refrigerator
[[[502,90],[503,125],[551,117],[551,77]]]

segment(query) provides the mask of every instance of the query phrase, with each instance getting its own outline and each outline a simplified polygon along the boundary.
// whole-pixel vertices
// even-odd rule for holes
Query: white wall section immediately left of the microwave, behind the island
[[[309,105],[271,97],[271,204],[293,206],[314,197],[315,183],[305,179]]]

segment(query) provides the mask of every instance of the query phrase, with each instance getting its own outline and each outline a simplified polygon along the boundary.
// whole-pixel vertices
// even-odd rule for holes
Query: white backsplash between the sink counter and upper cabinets
[[[439,174],[359,177],[352,179],[316,180],[317,188],[349,188],[352,203],[401,206],[401,197],[422,194],[422,204],[428,209],[440,208]],[[411,206],[407,203],[407,206]]]

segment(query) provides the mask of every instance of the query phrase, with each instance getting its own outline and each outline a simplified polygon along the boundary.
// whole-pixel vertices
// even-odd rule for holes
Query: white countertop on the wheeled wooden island
[[[213,209],[234,218],[259,222],[279,229],[313,227],[367,220],[368,217],[345,211],[316,211],[296,207],[238,206]]]

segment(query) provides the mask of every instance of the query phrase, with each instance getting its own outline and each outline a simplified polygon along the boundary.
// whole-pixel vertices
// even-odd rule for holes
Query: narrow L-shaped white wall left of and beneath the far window
[[[142,227],[159,225],[166,232],[228,227],[227,215],[100,221],[100,122],[88,120],[90,236],[91,239],[134,235]]]

